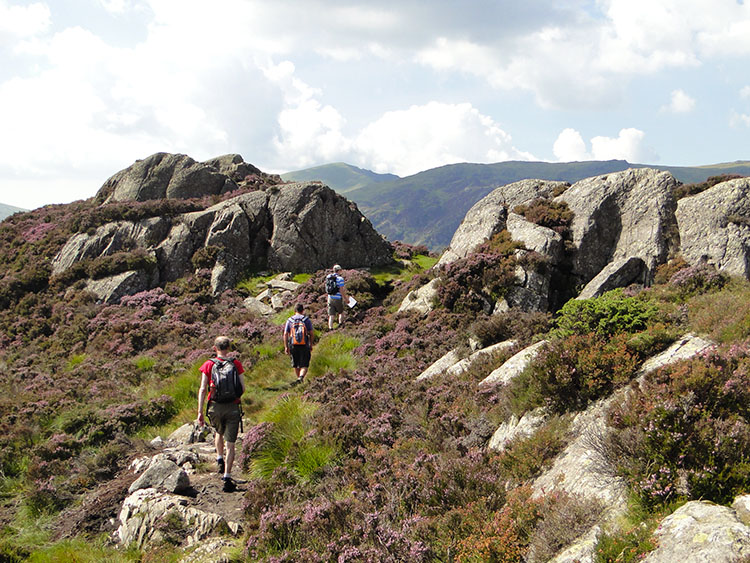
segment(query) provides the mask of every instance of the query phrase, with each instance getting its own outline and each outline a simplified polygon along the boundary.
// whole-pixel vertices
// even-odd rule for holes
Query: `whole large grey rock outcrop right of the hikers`
[[[552,310],[573,297],[573,287],[586,286],[580,294],[585,299],[634,283],[649,285],[656,267],[678,254],[691,265],[708,262],[750,278],[750,178],[722,182],[679,203],[674,177],[648,168],[566,186],[524,180],[497,188],[469,210],[438,265],[468,256],[504,229],[523,245],[519,255],[542,255],[548,267],[519,268],[505,298],[494,304],[496,312]],[[513,212],[540,198],[567,204],[573,213],[570,240]]]

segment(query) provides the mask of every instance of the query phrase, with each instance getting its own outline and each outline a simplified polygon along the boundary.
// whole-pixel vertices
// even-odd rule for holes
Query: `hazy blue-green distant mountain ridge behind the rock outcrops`
[[[666,170],[683,183],[702,182],[721,174],[750,176],[750,161],[686,167],[632,164],[625,160],[460,163],[405,178],[336,163],[281,176],[285,180],[320,180],[354,201],[389,240],[440,250],[448,245],[471,206],[499,186],[529,178],[573,183],[628,168]]]

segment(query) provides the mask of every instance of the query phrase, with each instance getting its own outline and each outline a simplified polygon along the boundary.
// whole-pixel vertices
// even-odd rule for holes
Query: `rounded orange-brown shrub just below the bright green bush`
[[[625,337],[604,340],[595,334],[573,334],[551,341],[526,371],[539,396],[562,413],[585,409],[609,395],[627,384],[637,368]]]

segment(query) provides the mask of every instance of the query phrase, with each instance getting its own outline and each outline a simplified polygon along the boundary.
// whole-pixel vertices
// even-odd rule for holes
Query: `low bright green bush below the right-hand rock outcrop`
[[[572,299],[560,310],[556,333],[561,336],[589,332],[606,338],[646,329],[661,316],[655,302],[628,297],[615,289],[593,299]]]

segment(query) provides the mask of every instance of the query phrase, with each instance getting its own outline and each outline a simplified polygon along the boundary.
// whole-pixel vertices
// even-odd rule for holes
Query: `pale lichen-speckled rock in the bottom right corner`
[[[750,528],[729,507],[691,501],[667,516],[654,532],[658,547],[643,559],[730,563],[750,557]]]

